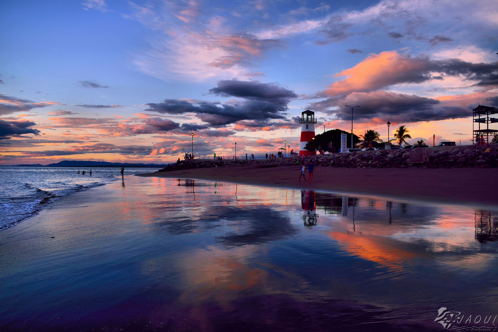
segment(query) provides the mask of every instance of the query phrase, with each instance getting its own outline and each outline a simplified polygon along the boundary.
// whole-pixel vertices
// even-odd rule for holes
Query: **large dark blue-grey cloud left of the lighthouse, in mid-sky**
[[[240,120],[286,119],[287,104],[297,95],[274,83],[227,80],[218,82],[209,92],[216,96],[244,99],[242,105],[211,102],[188,102],[166,99],[158,104],[146,104],[149,109],[167,114],[195,113],[210,126],[220,127]]]

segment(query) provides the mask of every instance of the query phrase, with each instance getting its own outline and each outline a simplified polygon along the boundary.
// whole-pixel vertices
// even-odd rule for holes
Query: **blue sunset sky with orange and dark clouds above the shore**
[[[496,0],[16,0],[0,21],[0,165],[276,154],[308,109],[351,131],[345,105],[357,135],[464,145],[498,107]]]

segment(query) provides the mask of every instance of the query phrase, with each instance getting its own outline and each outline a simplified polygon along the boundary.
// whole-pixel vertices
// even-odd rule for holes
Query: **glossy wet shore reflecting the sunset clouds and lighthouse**
[[[0,330],[494,331],[493,210],[131,176],[0,231]]]

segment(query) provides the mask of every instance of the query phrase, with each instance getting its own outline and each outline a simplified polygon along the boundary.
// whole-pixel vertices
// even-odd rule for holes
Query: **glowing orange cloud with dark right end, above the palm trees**
[[[498,62],[431,60],[427,56],[412,57],[397,51],[384,51],[369,55],[356,66],[334,75],[348,77],[334,82],[317,96],[344,98],[353,92],[372,92],[396,84],[417,84],[442,78],[434,73],[473,81],[475,86],[498,86]]]

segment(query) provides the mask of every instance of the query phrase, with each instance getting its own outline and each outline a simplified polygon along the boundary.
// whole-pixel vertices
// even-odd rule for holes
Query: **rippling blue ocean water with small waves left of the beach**
[[[159,168],[125,168],[124,175]],[[85,175],[82,171],[86,170]],[[80,171],[80,174],[78,174]],[[47,204],[121,178],[116,167],[0,167],[0,230],[37,215]]]

